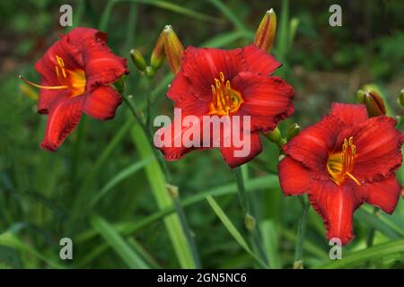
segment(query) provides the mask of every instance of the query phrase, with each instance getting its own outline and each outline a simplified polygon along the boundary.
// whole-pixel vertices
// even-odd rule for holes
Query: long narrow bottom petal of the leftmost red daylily
[[[40,144],[48,151],[56,151],[82,117],[85,98],[78,96],[53,102],[48,110],[45,136]]]

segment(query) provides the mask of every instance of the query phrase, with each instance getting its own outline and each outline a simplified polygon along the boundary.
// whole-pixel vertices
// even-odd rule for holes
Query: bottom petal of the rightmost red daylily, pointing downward
[[[355,185],[355,183],[354,183]],[[327,239],[338,238],[347,244],[354,238],[353,213],[363,203],[350,184],[338,187],[331,180],[312,180],[309,199],[321,215],[327,230]]]

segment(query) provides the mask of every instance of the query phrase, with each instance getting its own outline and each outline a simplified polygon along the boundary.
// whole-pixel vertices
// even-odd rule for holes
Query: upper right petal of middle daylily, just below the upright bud
[[[282,64],[270,54],[261,50],[255,45],[249,45],[243,48],[244,57],[249,65],[248,71],[264,75],[272,74]]]

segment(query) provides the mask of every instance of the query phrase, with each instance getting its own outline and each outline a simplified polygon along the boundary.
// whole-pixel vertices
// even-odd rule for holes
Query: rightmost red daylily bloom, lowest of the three
[[[329,116],[284,146],[279,181],[286,196],[308,194],[327,238],[354,238],[353,213],[364,202],[393,213],[401,185],[404,136],[391,117],[369,118],[364,105],[332,105]]]

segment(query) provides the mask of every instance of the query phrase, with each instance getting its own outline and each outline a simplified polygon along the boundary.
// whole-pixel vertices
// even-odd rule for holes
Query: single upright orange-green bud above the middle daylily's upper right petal
[[[271,9],[265,13],[264,18],[259,23],[259,28],[254,37],[254,44],[268,52],[274,44],[276,30],[277,14]]]

